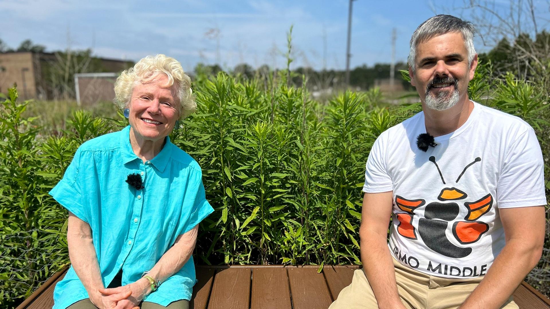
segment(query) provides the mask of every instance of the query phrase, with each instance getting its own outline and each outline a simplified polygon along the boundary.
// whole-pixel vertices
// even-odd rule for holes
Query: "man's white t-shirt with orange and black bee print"
[[[393,191],[389,249],[429,275],[485,275],[505,243],[498,209],[546,205],[535,131],[474,102],[466,123],[427,152],[416,146],[421,133],[423,112],[384,131],[368,156],[363,191]]]

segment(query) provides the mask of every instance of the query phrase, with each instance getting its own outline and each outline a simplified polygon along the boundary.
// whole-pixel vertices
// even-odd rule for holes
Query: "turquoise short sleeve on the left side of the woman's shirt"
[[[89,218],[87,218],[86,211],[83,208],[80,184],[78,183],[81,153],[82,151],[78,148],[74,154],[73,161],[69,164],[67,170],[65,170],[63,179],[53,187],[50,195],[76,217],[89,223]]]

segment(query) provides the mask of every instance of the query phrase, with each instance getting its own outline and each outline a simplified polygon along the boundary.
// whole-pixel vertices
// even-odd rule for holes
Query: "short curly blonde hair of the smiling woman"
[[[197,104],[191,90],[191,79],[183,71],[178,60],[157,54],[147,56],[134,65],[133,68],[123,71],[114,83],[114,103],[120,110],[128,107],[134,86],[138,83],[146,84],[157,78],[158,74],[168,76],[167,87],[175,84],[176,95],[179,100],[180,119],[195,112]]]

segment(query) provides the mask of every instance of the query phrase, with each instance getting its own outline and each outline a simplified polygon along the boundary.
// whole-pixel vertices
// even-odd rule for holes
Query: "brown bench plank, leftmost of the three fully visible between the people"
[[[227,268],[214,276],[208,309],[248,309],[251,269]]]

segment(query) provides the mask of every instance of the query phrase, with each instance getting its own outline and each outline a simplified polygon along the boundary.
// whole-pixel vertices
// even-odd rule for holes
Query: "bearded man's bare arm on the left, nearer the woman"
[[[388,249],[388,225],[393,192],[365,193],[361,213],[361,262],[375,294],[378,308],[405,308],[399,298],[392,256]]]

